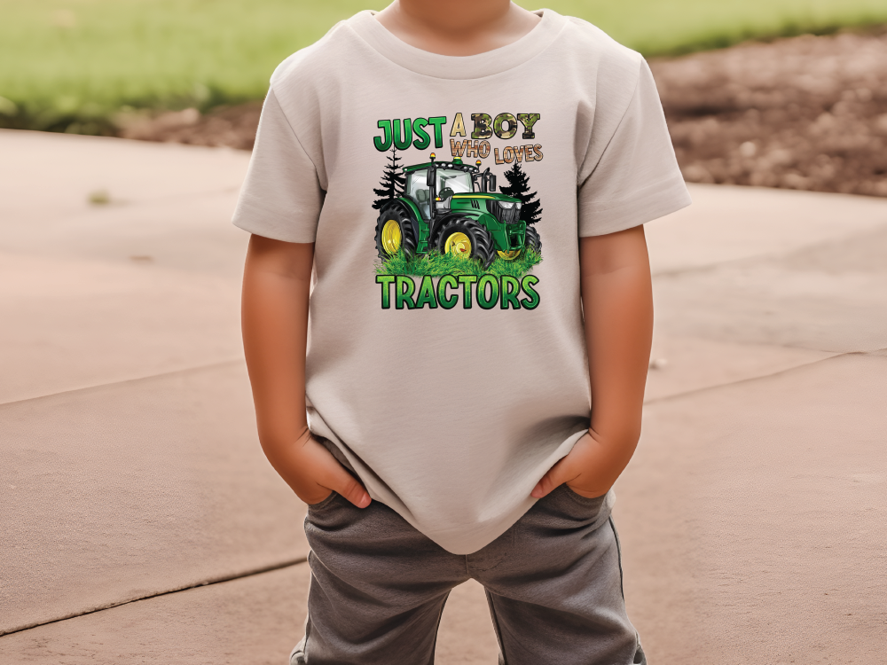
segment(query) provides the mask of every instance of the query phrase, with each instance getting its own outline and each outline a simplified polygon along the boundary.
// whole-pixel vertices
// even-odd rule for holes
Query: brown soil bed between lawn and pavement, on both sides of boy
[[[887,30],[651,61],[688,181],[887,196]],[[121,136],[252,148],[261,105],[121,122]]]

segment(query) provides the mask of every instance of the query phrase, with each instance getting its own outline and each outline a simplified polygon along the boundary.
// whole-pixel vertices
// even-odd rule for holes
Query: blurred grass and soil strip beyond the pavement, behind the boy
[[[887,196],[883,0],[551,6],[654,61],[687,180]],[[364,8],[0,0],[0,128],[246,149],[274,66]]]

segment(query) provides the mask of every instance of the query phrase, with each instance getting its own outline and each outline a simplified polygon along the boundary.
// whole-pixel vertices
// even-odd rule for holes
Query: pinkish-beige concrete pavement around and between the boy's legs
[[[0,155],[0,663],[285,662],[307,545],[239,343],[247,153],[0,131]],[[659,665],[881,661],[887,200],[691,192],[648,224],[632,621]],[[496,653],[459,587],[437,661]]]

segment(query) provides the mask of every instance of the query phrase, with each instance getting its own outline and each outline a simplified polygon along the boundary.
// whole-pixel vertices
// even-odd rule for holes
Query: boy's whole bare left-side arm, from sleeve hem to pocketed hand
[[[241,325],[259,441],[268,461],[307,504],[335,490],[360,508],[363,486],[311,437],[305,349],[313,243],[253,235],[243,273]]]

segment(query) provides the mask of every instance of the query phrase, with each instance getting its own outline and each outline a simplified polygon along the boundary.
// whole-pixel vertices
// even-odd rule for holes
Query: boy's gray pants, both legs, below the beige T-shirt
[[[456,555],[388,506],[333,493],[305,519],[308,621],[291,665],[430,665],[443,604],[469,578],[486,589],[500,665],[646,665],[603,503],[561,485],[491,544]]]

